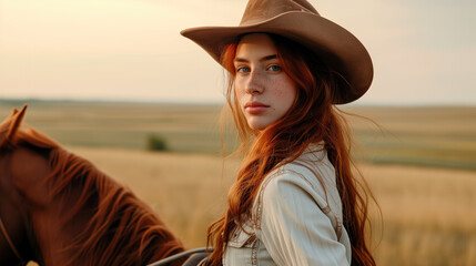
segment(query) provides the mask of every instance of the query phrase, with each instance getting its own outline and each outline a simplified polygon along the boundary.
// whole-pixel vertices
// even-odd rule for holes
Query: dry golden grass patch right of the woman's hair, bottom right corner
[[[383,213],[379,265],[476,265],[475,172],[361,168]]]

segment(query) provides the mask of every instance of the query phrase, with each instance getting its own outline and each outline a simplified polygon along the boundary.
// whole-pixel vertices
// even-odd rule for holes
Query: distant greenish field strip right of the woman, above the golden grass
[[[476,108],[358,108],[350,112],[365,161],[476,170]]]

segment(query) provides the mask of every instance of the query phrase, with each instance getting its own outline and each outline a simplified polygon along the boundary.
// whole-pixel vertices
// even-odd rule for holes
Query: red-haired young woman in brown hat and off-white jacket
[[[361,98],[371,58],[305,0],[250,0],[239,27],[182,31],[230,73],[245,157],[209,265],[375,265],[367,194],[335,104]]]

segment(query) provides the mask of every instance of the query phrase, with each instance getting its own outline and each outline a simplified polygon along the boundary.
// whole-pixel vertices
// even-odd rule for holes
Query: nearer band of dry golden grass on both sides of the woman
[[[189,248],[205,244],[236,161],[212,155],[72,147],[152,204]],[[361,165],[383,213],[373,215],[378,265],[476,265],[476,174]]]

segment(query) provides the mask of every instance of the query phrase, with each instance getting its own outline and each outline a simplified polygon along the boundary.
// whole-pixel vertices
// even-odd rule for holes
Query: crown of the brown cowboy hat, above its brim
[[[240,25],[260,23],[290,11],[320,16],[306,0],[250,0]]]

